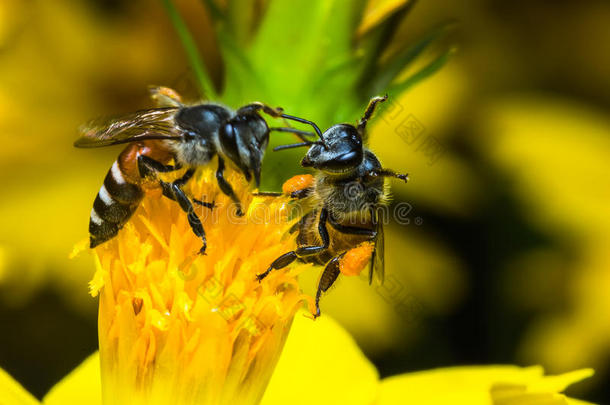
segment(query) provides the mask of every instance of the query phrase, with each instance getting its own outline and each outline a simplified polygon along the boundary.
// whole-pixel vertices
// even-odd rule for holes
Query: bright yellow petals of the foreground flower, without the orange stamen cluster
[[[379,380],[353,338],[324,315],[315,322],[297,314],[280,361],[262,399],[285,404],[586,404],[561,394],[593,374],[590,369],[544,376],[541,367],[452,367]],[[45,405],[100,404],[97,354],[85,360],[43,399]],[[178,401],[173,401],[179,404]],[[0,372],[0,404],[38,402]]]

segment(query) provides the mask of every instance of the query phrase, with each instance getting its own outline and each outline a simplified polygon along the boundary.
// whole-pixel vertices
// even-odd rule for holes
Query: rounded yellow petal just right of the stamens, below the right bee
[[[300,312],[263,397],[272,404],[372,404],[377,370],[332,318]]]

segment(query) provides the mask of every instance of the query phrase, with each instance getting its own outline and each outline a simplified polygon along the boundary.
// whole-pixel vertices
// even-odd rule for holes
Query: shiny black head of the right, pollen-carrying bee
[[[309,148],[301,165],[341,174],[362,163],[362,137],[353,125],[333,125],[322,134],[322,141]]]

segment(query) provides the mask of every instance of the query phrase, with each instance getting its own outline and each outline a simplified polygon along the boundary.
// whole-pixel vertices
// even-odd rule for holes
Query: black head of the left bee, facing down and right
[[[263,155],[269,143],[265,120],[258,114],[237,115],[221,127],[219,141],[225,156],[240,168],[246,180],[250,181],[253,174],[258,186]]]

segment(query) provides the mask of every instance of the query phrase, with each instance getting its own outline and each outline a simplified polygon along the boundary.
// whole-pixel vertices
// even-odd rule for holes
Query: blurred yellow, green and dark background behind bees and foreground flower
[[[389,89],[370,146],[411,181],[393,183],[386,284],[343,278],[322,303],[381,374],[594,367],[577,395],[610,402],[610,3],[212,4],[176,1],[215,99],[326,128]],[[150,84],[195,100],[190,66],[164,2],[0,3],[0,367],[38,396],[97,346],[92,260],[68,256],[120,149],[76,150],[77,128],[150,107]],[[268,153],[263,188],[303,152]]]

